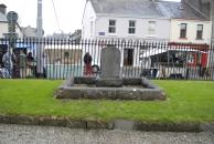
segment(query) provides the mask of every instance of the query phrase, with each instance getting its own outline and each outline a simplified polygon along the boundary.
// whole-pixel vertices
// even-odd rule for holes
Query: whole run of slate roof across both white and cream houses
[[[207,20],[186,3],[150,0],[90,0],[96,13],[140,18]],[[182,8],[182,9],[180,9]]]

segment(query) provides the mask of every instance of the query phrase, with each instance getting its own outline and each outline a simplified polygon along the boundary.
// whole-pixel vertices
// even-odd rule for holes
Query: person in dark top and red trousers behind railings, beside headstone
[[[92,75],[93,74],[93,69],[92,69],[92,61],[93,58],[89,54],[89,52],[85,53],[84,55],[84,74],[85,75]]]

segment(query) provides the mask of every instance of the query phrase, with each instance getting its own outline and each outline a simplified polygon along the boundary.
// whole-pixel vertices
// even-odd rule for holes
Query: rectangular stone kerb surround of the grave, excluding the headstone
[[[56,99],[106,99],[106,100],[138,100],[154,101],[165,100],[163,90],[150,83],[146,78],[122,79],[124,85],[136,85],[136,88],[96,88],[75,86],[75,84],[95,85],[95,78],[69,78],[55,93]],[[139,88],[142,86],[142,88]]]

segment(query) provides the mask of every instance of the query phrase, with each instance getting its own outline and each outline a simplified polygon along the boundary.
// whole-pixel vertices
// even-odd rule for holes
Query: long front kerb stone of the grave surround
[[[56,91],[56,99],[106,99],[106,100],[165,100],[161,90],[128,88],[64,88]]]

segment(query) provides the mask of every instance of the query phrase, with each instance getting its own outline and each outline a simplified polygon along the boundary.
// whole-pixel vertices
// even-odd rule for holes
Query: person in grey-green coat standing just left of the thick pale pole
[[[26,55],[21,50],[19,55],[19,69],[20,69],[20,78],[26,78]]]

